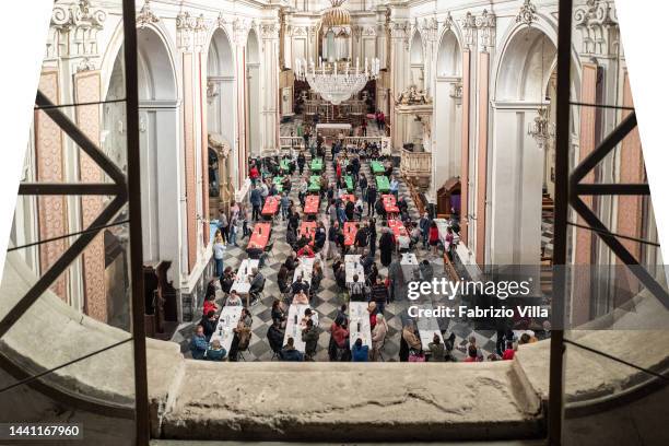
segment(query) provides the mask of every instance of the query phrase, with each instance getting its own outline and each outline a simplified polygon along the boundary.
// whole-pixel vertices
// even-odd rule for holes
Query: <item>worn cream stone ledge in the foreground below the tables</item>
[[[524,438],[539,399],[512,391],[512,362],[202,363],[184,382],[161,437],[392,441]],[[514,383],[516,382],[516,383]]]

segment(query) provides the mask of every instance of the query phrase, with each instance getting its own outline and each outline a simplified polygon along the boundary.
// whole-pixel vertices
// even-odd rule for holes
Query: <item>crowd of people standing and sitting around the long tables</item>
[[[378,126],[384,125],[383,114],[377,114],[376,121]],[[253,186],[248,204],[232,202],[230,209],[220,210],[219,231],[213,245],[215,281],[210,283],[202,319],[191,341],[195,359],[221,361],[227,357],[230,361],[236,361],[239,352],[248,348],[253,318],[246,307],[243,308],[242,317],[233,330],[234,339],[230,352],[226,352],[218,340],[210,342],[210,338],[220,314],[214,302],[216,290],[223,293],[225,306],[244,305],[244,301],[233,290],[233,284],[242,272],[231,267],[224,268],[223,265],[226,246],[237,246],[240,239],[250,236],[249,226],[257,222],[285,222],[284,242],[291,248],[277,275],[280,294],[272,296],[272,324],[267,331],[267,341],[273,355],[282,361],[314,361],[318,353],[319,337],[324,332],[328,332],[330,337],[327,349],[330,361],[383,360],[383,348],[389,332],[385,312],[389,303],[403,298],[402,286],[407,285],[399,265],[400,255],[423,249],[423,257],[426,258],[414,271],[414,280],[422,281],[431,281],[434,277],[433,266],[427,258],[439,256],[439,247],[443,247],[445,255],[454,256],[459,242],[458,215],[454,213],[443,238],[427,212],[413,218],[409,201],[400,193],[392,160],[380,156],[377,144],[347,146],[341,139],[333,141],[329,156],[333,175],[328,175],[325,138],[317,134],[312,142],[309,129],[301,129],[300,133],[307,149],[291,151],[281,157],[250,160],[248,175]],[[306,150],[309,151],[308,156]],[[312,164],[314,160],[320,160],[320,164]],[[389,179],[387,190],[379,191],[374,174],[367,177],[362,172],[363,163],[371,161],[383,166],[379,174]],[[320,169],[315,171],[315,165],[320,165]],[[297,178],[298,184],[296,201],[292,198],[293,178]],[[307,215],[304,209],[309,195],[318,197],[319,206],[315,214]],[[397,212],[392,212],[392,215],[386,211],[384,195],[395,197]],[[262,214],[269,197],[277,197],[279,200],[277,215]],[[389,226],[389,219],[401,222],[407,230],[407,236],[398,237]],[[305,222],[314,223],[314,230],[306,234],[301,232]],[[354,236],[347,234],[347,227],[349,231],[354,227]],[[273,246],[273,243],[268,242],[268,245]],[[259,268],[247,273],[250,284],[247,302],[253,306],[265,287],[265,277],[260,269],[268,256],[268,249],[267,246],[254,246],[249,242],[246,253],[249,259],[260,262]],[[364,280],[357,274],[353,275],[352,281],[347,280],[345,256],[350,254],[360,255]],[[379,273],[377,257],[380,266],[388,269],[386,275]],[[318,314],[312,304],[322,290],[321,281],[328,262],[339,291],[339,310],[329,327],[320,327]],[[307,278],[304,277],[304,270],[301,274],[295,273],[305,265],[309,266]],[[372,336],[367,343],[361,338],[351,337],[351,320],[347,306],[354,302],[366,303]],[[293,328],[293,336],[286,336],[286,328],[291,322],[291,305],[306,306],[306,309],[298,320],[296,318],[293,321],[298,329]],[[518,343],[536,340],[533,336],[526,339],[526,334],[518,338],[513,331],[500,331],[496,352],[484,357],[474,337],[463,345],[455,345],[455,334],[447,333],[446,330],[442,333],[435,332],[425,348],[415,320],[408,318],[401,330],[399,357],[400,361],[408,362],[456,361],[455,353],[459,351],[465,355],[465,362],[510,360]]]

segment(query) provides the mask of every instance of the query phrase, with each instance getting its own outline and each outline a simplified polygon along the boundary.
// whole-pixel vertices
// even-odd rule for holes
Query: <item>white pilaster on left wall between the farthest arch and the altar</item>
[[[262,38],[262,152],[279,149],[279,24],[260,25]]]

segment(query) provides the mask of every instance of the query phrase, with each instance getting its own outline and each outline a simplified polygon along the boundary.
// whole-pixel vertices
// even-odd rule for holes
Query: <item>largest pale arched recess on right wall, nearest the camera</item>
[[[528,126],[541,107],[551,108],[555,54],[541,30],[519,28],[500,59],[490,181],[492,263],[537,265],[541,259],[542,190],[551,166],[547,149],[538,146]]]

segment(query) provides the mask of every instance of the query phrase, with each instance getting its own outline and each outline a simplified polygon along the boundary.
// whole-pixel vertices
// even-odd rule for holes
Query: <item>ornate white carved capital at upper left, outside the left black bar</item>
[[[47,43],[47,58],[97,58],[97,33],[103,30],[107,13],[80,0],[71,4],[55,4]]]

